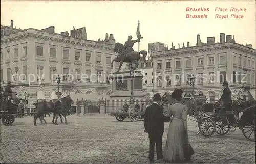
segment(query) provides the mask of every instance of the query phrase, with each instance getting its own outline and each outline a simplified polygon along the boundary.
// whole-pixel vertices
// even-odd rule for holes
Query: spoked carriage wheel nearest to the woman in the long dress
[[[214,121],[209,118],[203,118],[199,122],[199,131],[204,136],[211,136],[215,131]]]

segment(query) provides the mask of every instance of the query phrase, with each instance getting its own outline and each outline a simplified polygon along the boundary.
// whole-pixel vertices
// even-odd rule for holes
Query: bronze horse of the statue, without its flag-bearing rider
[[[126,51],[127,54],[123,57],[123,52],[124,51]],[[146,62],[147,51],[145,51],[145,50],[141,50],[139,52],[136,52],[136,51],[133,51],[133,48],[130,48],[130,47],[127,47],[125,49],[125,47],[122,43],[116,43],[115,47],[114,47],[114,52],[118,53],[119,55],[117,56],[116,59],[112,60],[111,67],[113,67],[114,62],[120,63],[117,72],[120,71],[123,62],[130,63],[130,64],[134,63],[134,68],[131,69],[131,71],[136,70],[136,68],[139,65],[138,61],[140,60],[140,57],[141,57],[140,54],[142,54],[143,61]]]

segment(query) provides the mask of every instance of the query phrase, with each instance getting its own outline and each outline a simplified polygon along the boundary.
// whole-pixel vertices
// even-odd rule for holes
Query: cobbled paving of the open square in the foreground
[[[143,122],[113,117],[68,116],[68,124],[33,126],[32,117],[1,125],[2,163],[147,163],[148,138]],[[2,123],[1,123],[2,124]],[[225,136],[196,135],[188,120],[193,163],[255,163],[255,143],[237,129]],[[165,124],[167,131],[168,123]],[[167,133],[164,133],[165,145]],[[156,161],[159,162],[159,161]]]

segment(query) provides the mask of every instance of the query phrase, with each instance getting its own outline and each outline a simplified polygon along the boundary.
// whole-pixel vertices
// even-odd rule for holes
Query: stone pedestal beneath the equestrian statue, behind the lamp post
[[[133,75],[133,97],[134,99],[143,99],[145,93],[142,92],[142,78],[140,71],[135,71]],[[111,99],[131,99],[131,73],[122,71],[113,74]]]

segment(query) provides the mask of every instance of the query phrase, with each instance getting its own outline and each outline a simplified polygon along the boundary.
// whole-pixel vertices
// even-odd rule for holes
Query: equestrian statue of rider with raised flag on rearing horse
[[[120,68],[122,67],[123,62],[124,63],[130,63],[130,66],[132,65],[132,63],[134,63],[134,68],[131,68],[131,71],[135,71],[136,68],[139,65],[139,60],[140,60],[140,54],[142,54],[142,59],[144,62],[146,62],[146,55],[147,55],[147,51],[142,50],[142,51],[134,51],[133,49],[133,45],[134,43],[140,43],[140,39],[143,39],[143,37],[141,37],[140,32],[139,32],[139,23],[138,23],[138,28],[137,28],[137,40],[132,40],[132,36],[128,36],[128,40],[125,42],[125,44],[123,45],[122,43],[116,43],[115,47],[114,47],[114,52],[118,53],[119,55],[117,56],[116,59],[113,59],[112,63],[111,63],[111,67],[113,67],[113,63],[114,62],[118,62],[120,63],[119,68],[117,70],[117,72],[120,71]]]

